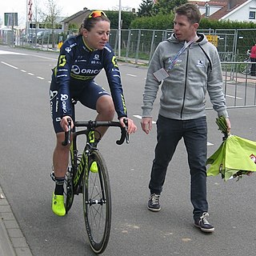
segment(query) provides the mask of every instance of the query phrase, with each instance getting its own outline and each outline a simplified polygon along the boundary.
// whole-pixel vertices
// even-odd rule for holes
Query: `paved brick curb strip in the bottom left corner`
[[[33,256],[0,186],[0,255]]]

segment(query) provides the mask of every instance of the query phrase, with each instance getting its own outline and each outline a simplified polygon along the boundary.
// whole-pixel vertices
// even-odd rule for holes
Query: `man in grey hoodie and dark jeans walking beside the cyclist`
[[[150,175],[148,209],[161,210],[159,196],[166,178],[167,166],[179,140],[184,139],[190,166],[190,198],[194,206],[194,226],[213,232],[207,221],[206,158],[207,123],[206,92],[218,117],[225,116],[228,132],[230,120],[222,91],[222,67],[215,46],[205,35],[197,33],[201,14],[187,3],[175,10],[174,34],[159,43],[150,61],[142,105],[142,130],[149,134],[151,111],[162,85],[157,122],[157,145]],[[214,68],[213,68],[214,67]]]

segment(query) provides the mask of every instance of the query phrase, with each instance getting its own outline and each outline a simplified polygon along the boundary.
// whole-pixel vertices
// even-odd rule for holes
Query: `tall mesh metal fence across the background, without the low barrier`
[[[222,62],[242,61],[246,50],[256,42],[256,29],[198,30],[210,38],[214,38]],[[110,45],[115,53],[124,61],[146,64],[154,53],[159,42],[170,37],[172,30],[121,30],[121,49],[118,49],[118,30],[111,30]],[[72,31],[61,30],[0,30],[0,43],[12,46],[29,46],[42,50],[58,50],[59,42],[63,42]]]

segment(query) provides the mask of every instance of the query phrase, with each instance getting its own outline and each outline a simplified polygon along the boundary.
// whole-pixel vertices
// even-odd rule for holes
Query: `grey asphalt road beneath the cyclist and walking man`
[[[86,237],[82,197],[74,198],[74,206],[64,218],[55,216],[50,205],[55,138],[48,95],[50,69],[57,58],[53,53],[0,46],[0,184],[34,256],[89,256],[94,254]],[[224,182],[220,176],[208,178],[210,222],[215,232],[203,234],[193,226],[183,142],[169,166],[162,210],[147,210],[156,130],[154,126],[149,135],[144,134],[137,116],[141,114],[146,69],[124,63],[120,63],[120,69],[128,113],[138,132],[130,136],[129,145],[117,146],[114,142],[119,131],[113,128],[100,144],[110,173],[113,203],[110,242],[103,255],[254,256],[256,174],[238,182]],[[102,71],[97,81],[108,88],[104,75]],[[254,88],[247,90],[254,94]],[[232,134],[255,140],[255,109],[229,112]],[[154,119],[157,113],[158,100]],[[79,104],[77,114],[81,119],[95,116]],[[222,134],[214,123],[214,110],[207,110],[207,118],[210,155],[221,144]]]

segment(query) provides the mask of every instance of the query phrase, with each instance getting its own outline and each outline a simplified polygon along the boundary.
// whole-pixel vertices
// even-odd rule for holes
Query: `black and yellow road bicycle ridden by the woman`
[[[126,123],[126,126],[128,124]],[[70,165],[64,182],[64,203],[66,214],[70,210],[74,195],[82,193],[83,214],[86,223],[90,247],[96,254],[102,254],[110,238],[111,228],[111,190],[106,162],[95,145],[95,130],[99,126],[116,126],[121,129],[121,138],[116,141],[121,145],[129,143],[126,127],[119,122],[74,122],[71,140],[71,121],[69,131],[65,133],[63,146],[70,144]],[[85,129],[77,130],[78,127]],[[82,154],[78,152],[78,137],[86,135],[86,145]]]

